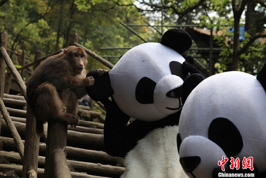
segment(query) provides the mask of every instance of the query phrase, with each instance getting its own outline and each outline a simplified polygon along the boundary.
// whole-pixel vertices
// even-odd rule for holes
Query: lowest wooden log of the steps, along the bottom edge
[[[0,170],[1,171],[6,170],[6,169],[14,170],[18,176],[22,175],[22,166],[0,164]],[[79,173],[79,172],[71,172],[71,177],[72,178],[108,178],[108,177],[83,174],[83,173]],[[38,169],[38,178],[44,178],[44,169],[41,169],[41,168]]]

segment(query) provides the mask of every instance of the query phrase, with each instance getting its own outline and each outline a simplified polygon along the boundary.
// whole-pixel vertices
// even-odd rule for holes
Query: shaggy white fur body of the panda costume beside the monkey
[[[186,178],[179,162],[176,135],[178,126],[151,131],[138,141],[125,158],[121,178]]]

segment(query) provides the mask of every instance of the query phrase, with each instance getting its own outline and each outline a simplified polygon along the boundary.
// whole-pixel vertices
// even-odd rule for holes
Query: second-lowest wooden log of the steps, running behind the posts
[[[8,158],[11,162],[21,163],[21,158],[18,153],[0,151],[0,156]],[[38,164],[44,165],[45,159],[46,158],[44,156],[39,156]],[[72,161],[72,160],[67,160],[67,163],[70,166],[72,166],[74,169],[82,170],[84,172],[89,171],[89,172],[97,172],[104,174],[122,175],[125,171],[124,167],[119,167],[119,166],[110,166],[110,165],[95,164],[95,163],[88,163],[82,161]]]

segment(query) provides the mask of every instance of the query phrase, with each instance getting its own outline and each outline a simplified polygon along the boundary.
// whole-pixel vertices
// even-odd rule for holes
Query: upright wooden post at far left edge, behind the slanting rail
[[[3,46],[7,49],[7,33],[0,32],[0,46]],[[2,58],[2,54],[0,53],[0,98],[4,97],[4,84],[5,84],[5,71],[6,71],[6,63]],[[1,116],[1,111],[0,111]],[[1,130],[1,120],[0,120],[0,130]]]

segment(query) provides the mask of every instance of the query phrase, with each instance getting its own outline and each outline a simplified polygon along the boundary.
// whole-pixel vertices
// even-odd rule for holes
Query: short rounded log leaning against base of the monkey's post
[[[71,173],[67,164],[65,152],[58,148],[51,152],[50,171],[51,177],[54,178],[71,178]],[[51,167],[53,168],[51,170]]]

